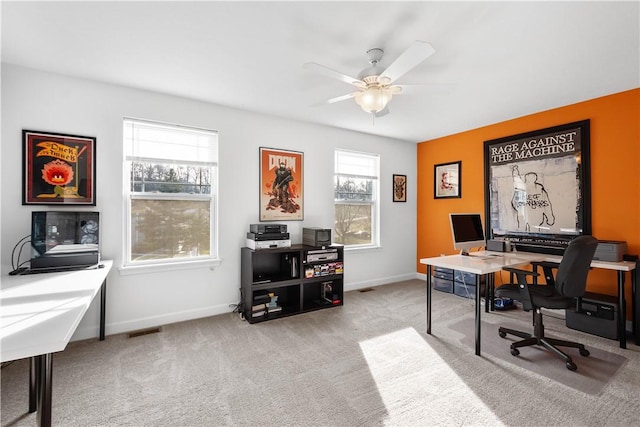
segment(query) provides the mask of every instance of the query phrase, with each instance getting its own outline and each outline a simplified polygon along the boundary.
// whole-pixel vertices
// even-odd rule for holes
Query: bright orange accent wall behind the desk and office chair
[[[640,253],[640,89],[620,92],[418,144],[418,259],[454,253],[449,212],[484,220],[484,141],[590,119],[591,228],[602,240],[624,240]],[[433,198],[433,166],[462,161],[459,199]],[[630,292],[631,277],[626,288]],[[594,269],[587,289],[617,293],[617,275]],[[630,303],[630,296],[627,302]]]

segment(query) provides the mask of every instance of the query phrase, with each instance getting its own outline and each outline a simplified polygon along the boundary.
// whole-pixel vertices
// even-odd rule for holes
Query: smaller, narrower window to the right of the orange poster
[[[336,150],[334,241],[349,247],[378,246],[379,157]]]

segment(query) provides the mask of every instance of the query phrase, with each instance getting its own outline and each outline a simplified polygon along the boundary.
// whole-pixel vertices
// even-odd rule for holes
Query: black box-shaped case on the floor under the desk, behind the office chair
[[[575,311],[566,311],[565,319],[568,328],[617,340],[619,313],[616,297],[586,292]]]

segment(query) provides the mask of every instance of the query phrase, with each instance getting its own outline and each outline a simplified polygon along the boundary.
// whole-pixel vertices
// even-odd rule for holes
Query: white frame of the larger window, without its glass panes
[[[215,147],[210,147],[212,150],[210,153],[206,153],[204,156],[200,156],[193,153],[193,156],[189,159],[171,159],[164,157],[163,155],[145,153],[139,155],[136,152],[134,138],[131,135],[126,135],[128,126],[134,126],[140,124],[143,126],[157,126],[159,128],[167,128],[172,131],[184,130],[189,133],[203,133],[208,135],[215,144]],[[124,167],[123,167],[123,187],[124,187],[124,224],[125,224],[125,238],[123,239],[123,265],[120,268],[121,274],[137,274],[154,272],[160,270],[180,270],[189,269],[193,267],[203,266],[216,266],[220,264],[218,256],[218,241],[219,241],[219,228],[218,228],[218,133],[217,131],[210,129],[195,128],[189,126],[176,125],[172,123],[156,122],[144,119],[134,119],[125,117],[123,120],[123,142],[124,142]],[[184,151],[182,151],[183,153]],[[201,159],[205,158],[205,161]],[[192,165],[199,167],[207,167],[211,173],[211,189],[209,194],[190,194],[190,193],[157,193],[157,192],[133,192],[131,191],[131,164],[135,161],[152,161],[165,164],[176,165]],[[131,233],[133,232],[131,224],[131,202],[133,200],[159,200],[159,201],[209,201],[210,222],[209,222],[209,236],[210,236],[210,250],[209,255],[200,256],[187,256],[179,258],[165,258],[154,259],[144,261],[133,261],[131,258]]]

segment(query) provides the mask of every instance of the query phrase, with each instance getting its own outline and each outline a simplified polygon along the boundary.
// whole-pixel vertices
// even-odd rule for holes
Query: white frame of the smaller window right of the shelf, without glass
[[[340,154],[344,153],[350,156],[363,157],[368,159],[369,161],[373,161],[374,170],[373,174],[363,174],[363,173],[348,173],[348,172],[340,172],[341,165],[339,164]],[[344,168],[343,168],[344,169]],[[360,151],[346,150],[337,148],[335,150],[335,162],[334,162],[334,186],[336,179],[338,176],[343,177],[353,177],[353,178],[364,178],[370,179],[373,184],[371,201],[366,200],[339,200],[335,198],[335,187],[334,187],[334,226],[333,233],[335,236],[335,206],[336,205],[370,205],[371,206],[371,243],[367,244],[345,244],[345,250],[358,250],[358,249],[374,249],[380,247],[380,155],[373,153],[365,153]]]

